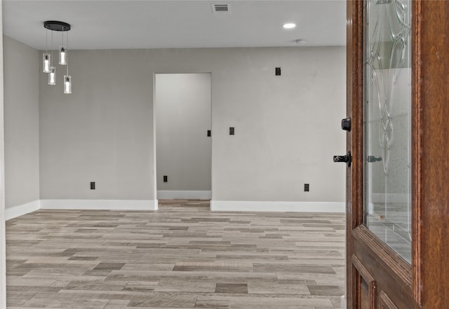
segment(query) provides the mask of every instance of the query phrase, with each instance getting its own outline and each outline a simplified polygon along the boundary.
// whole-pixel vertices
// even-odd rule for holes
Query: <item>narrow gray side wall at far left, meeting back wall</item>
[[[39,200],[39,52],[4,36],[6,208]]]

